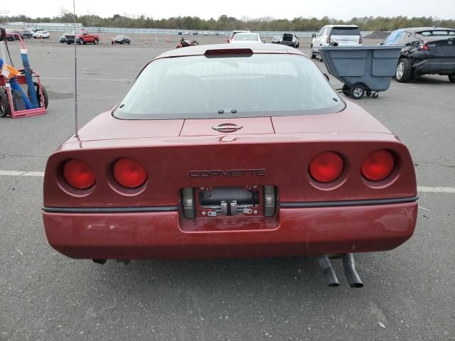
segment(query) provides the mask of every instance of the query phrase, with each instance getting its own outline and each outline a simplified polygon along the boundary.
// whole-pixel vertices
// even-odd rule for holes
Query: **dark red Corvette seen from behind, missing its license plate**
[[[410,152],[284,45],[172,50],[48,159],[43,219],[77,259],[350,254],[412,236]]]

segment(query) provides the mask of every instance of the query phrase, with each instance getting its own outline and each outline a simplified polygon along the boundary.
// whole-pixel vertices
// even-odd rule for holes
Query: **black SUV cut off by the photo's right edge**
[[[421,75],[447,75],[455,82],[455,29],[402,28],[390,33],[381,45],[404,45],[395,72],[398,82]]]

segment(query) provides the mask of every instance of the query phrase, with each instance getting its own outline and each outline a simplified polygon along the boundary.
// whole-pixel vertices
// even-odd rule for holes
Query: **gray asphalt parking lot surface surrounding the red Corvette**
[[[43,178],[26,173],[43,172],[74,133],[74,45],[57,36],[26,40],[48,113],[0,119],[0,340],[455,340],[455,84],[447,77],[392,80],[378,99],[357,101],[410,148],[419,187],[435,188],[419,193],[410,241],[356,256],[364,288],[349,288],[339,261],[341,286],[328,288],[314,258],[100,266],[48,246]],[[122,99],[141,67],[180,37],[115,46],[110,38],[78,47],[80,125]]]

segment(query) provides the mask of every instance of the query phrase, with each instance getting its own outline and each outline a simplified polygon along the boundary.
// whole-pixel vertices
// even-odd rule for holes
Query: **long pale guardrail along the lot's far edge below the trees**
[[[8,25],[7,28],[21,28],[23,26]],[[167,34],[167,35],[185,35],[191,36],[198,34],[200,36],[230,36],[231,31],[207,31],[207,30],[183,30],[183,29],[171,29],[171,28],[127,28],[127,27],[97,27],[97,26],[85,26],[85,30],[90,33],[112,33],[112,34]],[[65,26],[40,26],[43,31],[50,32],[68,32],[71,28]],[[259,36],[280,36],[283,33],[295,33],[298,37],[311,38],[313,33],[316,31],[254,31],[259,33]],[[372,31],[360,32],[362,36],[368,36]]]

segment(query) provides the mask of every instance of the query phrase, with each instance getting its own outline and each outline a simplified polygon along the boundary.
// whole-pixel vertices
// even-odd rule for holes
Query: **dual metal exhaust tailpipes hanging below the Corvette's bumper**
[[[358,276],[357,270],[355,269],[355,261],[353,254],[344,254],[342,257],[343,260],[343,269],[346,279],[348,280],[349,286],[351,288],[363,288],[363,282]],[[320,256],[318,258],[319,266],[323,271],[324,278],[330,287],[340,286],[340,281],[336,276],[335,270],[332,267],[330,259],[328,256]]]

